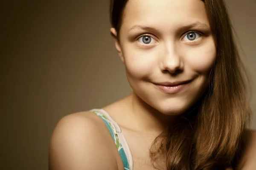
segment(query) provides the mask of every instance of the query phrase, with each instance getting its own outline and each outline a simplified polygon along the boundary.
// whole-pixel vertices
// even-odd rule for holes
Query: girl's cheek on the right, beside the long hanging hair
[[[214,44],[209,46],[201,46],[197,49],[189,50],[186,54],[188,65],[195,72],[206,73],[212,69],[215,62],[216,51]]]

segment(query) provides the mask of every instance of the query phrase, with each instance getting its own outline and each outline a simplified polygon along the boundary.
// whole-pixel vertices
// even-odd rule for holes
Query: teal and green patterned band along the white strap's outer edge
[[[130,168],[129,168],[130,166],[129,166],[128,158],[127,158],[127,156],[125,154],[125,150],[122,147],[122,144],[120,144],[120,142],[119,142],[118,135],[116,133],[114,133],[113,127],[111,126],[111,121],[105,115],[103,115],[101,112],[97,112],[97,111],[94,111],[94,110],[91,111],[91,112],[95,113],[100,118],[102,118],[102,120],[104,121],[104,123],[108,127],[108,130],[111,133],[112,138],[115,141],[116,148],[117,148],[117,150],[119,152],[119,155],[122,158],[122,162],[123,162],[125,170],[130,170]]]

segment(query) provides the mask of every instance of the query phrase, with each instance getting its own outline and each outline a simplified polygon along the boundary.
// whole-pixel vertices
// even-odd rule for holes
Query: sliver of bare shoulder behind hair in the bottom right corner
[[[256,169],[256,130],[247,130],[246,146],[241,158],[239,170]]]

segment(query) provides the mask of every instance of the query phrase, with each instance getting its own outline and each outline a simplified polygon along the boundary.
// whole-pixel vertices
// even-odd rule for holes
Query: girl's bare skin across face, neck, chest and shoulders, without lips
[[[190,31],[195,40],[188,39]],[[133,155],[134,170],[154,170],[148,153],[151,142],[173,115],[192,107],[208,86],[216,54],[204,3],[129,0],[119,39],[115,29],[111,28],[111,34],[133,93],[103,109],[121,127]],[[151,38],[150,43],[145,41],[145,35]],[[189,84],[175,94],[164,93],[155,86],[188,80]],[[246,170],[256,166],[253,138],[245,154],[250,156],[243,158]],[[164,169],[163,164],[158,167]],[[107,127],[91,112],[68,115],[58,122],[50,143],[49,168],[124,169]]]

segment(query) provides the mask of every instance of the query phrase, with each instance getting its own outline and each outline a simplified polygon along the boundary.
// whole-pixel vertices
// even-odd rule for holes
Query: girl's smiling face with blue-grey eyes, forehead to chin
[[[129,0],[119,38],[128,81],[151,107],[177,115],[207,89],[216,52],[202,0]]]

